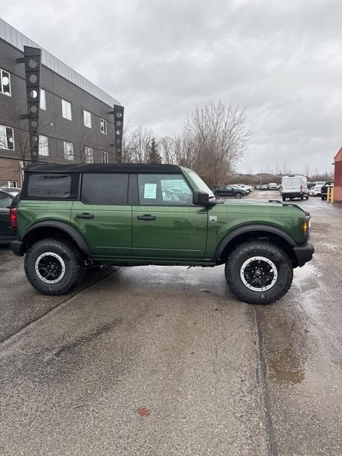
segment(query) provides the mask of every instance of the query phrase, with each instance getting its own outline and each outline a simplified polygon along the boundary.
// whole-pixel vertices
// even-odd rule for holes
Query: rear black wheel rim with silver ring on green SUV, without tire
[[[34,269],[39,279],[45,284],[58,284],[66,274],[66,264],[63,258],[54,252],[44,252],[39,255]]]

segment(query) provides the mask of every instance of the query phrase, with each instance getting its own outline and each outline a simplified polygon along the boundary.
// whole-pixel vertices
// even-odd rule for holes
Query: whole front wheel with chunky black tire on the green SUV
[[[286,252],[265,241],[239,244],[226,262],[232,292],[248,304],[271,304],[289,291],[294,271]]]

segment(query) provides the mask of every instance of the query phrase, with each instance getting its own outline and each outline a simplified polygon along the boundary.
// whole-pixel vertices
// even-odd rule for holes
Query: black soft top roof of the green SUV
[[[84,165],[28,165],[26,172],[150,172],[179,174],[177,165],[144,165],[141,163],[91,163]]]

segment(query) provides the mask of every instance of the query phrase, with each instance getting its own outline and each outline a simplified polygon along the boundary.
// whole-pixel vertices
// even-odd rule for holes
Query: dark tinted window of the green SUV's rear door
[[[128,204],[128,174],[84,173],[81,201],[85,204]]]

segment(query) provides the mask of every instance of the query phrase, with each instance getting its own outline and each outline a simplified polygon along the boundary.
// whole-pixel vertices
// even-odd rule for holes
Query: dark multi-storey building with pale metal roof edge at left
[[[27,71],[17,59],[39,48],[0,19],[0,187],[21,187],[30,161]],[[38,162],[115,162],[115,98],[41,49]],[[122,108],[123,109],[123,108]],[[24,115],[24,116],[23,116]],[[26,118],[23,119],[23,117]],[[122,113],[123,115],[123,113]],[[122,129],[122,125],[121,125]]]

